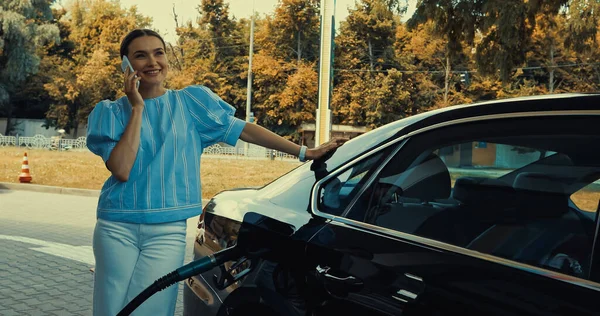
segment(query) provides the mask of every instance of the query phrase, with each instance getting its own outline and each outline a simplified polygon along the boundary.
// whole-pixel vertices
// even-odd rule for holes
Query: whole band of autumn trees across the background
[[[0,5],[0,116],[44,117],[49,127],[77,133],[96,103],[123,95],[119,43],[152,19],[109,0],[51,10],[52,2]],[[255,16],[252,111],[258,124],[293,140],[302,123],[315,121],[319,5],[281,0]],[[357,0],[340,23],[335,124],[375,128],[455,104],[600,86],[597,1],[423,0],[411,16],[404,5]],[[230,15],[225,0],[201,0],[198,11],[193,23],[174,17],[167,85],[206,85],[245,119],[250,20]],[[14,31],[33,26],[37,33]],[[9,68],[25,71],[15,76]]]

